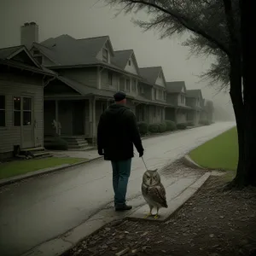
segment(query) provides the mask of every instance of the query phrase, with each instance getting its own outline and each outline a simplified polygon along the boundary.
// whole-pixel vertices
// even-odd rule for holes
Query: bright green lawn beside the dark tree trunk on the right
[[[236,127],[195,148],[189,156],[202,167],[236,171],[238,160]]]

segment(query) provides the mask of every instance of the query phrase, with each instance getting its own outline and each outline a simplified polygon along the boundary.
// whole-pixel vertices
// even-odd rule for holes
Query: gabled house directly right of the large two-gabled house
[[[138,84],[137,121],[148,124],[165,121],[166,79],[162,67],[142,67]]]

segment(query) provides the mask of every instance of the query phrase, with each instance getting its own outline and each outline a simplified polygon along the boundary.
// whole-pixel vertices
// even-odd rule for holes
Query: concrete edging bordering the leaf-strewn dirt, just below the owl
[[[194,183],[190,184],[187,189],[184,189],[183,192],[173,199],[170,213],[164,219],[156,220],[158,222],[164,222],[168,218],[177,212],[186,201],[195,195],[195,192],[201,189],[201,186],[207,181],[207,178],[210,177],[210,172],[203,174],[201,177],[195,180]],[[22,256],[67,256],[69,255],[69,251],[75,247],[80,241],[83,241],[86,237],[94,235],[100,232],[106,224],[116,221],[124,222],[124,221],[150,221],[149,219],[143,218],[131,218],[120,217],[120,218],[96,218],[92,217],[90,220],[85,221],[83,224],[73,228],[72,230],[67,231],[66,233],[58,236],[52,240],[45,241],[44,243],[38,245],[37,247],[32,248],[26,253],[23,253]],[[155,221],[155,220],[154,220]]]

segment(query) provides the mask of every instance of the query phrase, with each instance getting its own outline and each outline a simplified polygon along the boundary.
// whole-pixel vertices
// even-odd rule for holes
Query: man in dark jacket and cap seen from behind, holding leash
[[[131,173],[133,144],[139,156],[143,156],[143,144],[137,128],[137,121],[131,109],[126,107],[125,92],[119,91],[113,96],[111,105],[99,121],[97,131],[98,153],[110,160],[113,169],[113,191],[115,211],[131,210],[127,206],[126,191]]]

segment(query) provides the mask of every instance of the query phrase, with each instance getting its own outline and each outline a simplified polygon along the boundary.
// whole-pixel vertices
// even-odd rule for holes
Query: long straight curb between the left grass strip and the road
[[[65,164],[65,165],[61,165],[61,166],[56,166],[56,167],[52,167],[52,168],[46,168],[46,169],[43,169],[43,170],[38,170],[38,171],[35,171],[35,172],[28,172],[24,175],[18,175],[16,177],[4,178],[3,180],[0,180],[0,187],[3,187],[3,186],[8,185],[10,183],[16,183],[16,182],[19,182],[21,180],[25,180],[25,179],[30,178],[30,177],[37,177],[37,176],[40,176],[40,175],[43,175],[43,174],[47,174],[47,173],[51,173],[51,172],[58,172],[58,171],[65,170],[67,168],[71,168],[71,167],[75,167],[75,166],[82,166],[86,163],[89,163],[89,162],[94,161],[94,160],[99,160],[99,159],[102,159],[102,156],[99,156],[99,157],[96,157],[96,158],[90,159],[90,160],[82,160],[82,161],[80,161],[78,163],[75,163],[75,164]]]

